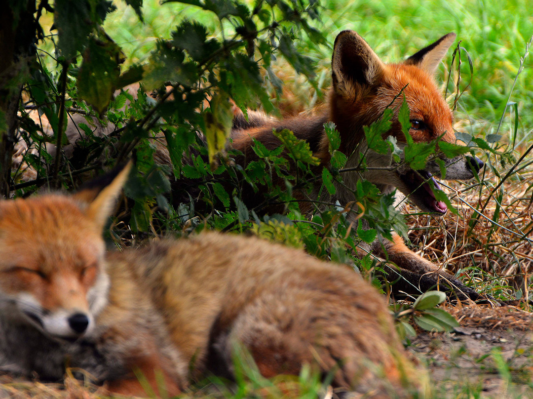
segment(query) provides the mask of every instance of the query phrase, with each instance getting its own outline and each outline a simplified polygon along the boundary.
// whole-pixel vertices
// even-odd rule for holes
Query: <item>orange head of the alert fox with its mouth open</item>
[[[433,78],[455,37],[454,33],[449,33],[402,63],[385,64],[356,32],[345,30],[337,36],[332,60],[334,89],[330,112],[341,133],[342,149],[346,155],[352,155],[349,162],[358,163],[357,154],[366,152],[361,126],[375,122],[387,107],[395,109],[396,114],[386,135],[394,136],[400,149],[406,146],[397,117],[404,96],[409,107],[409,134],[415,142],[456,143],[453,113]],[[479,171],[483,166],[477,157],[438,156],[446,166],[446,179],[470,179],[474,176],[473,170]],[[439,188],[433,177],[442,177],[437,162],[427,162],[424,170],[412,170],[403,162],[394,163],[390,154],[374,151],[366,153],[366,162],[371,168],[363,177],[380,186],[382,191],[397,187],[418,208],[446,213],[446,204],[435,199],[429,184],[431,181]]]

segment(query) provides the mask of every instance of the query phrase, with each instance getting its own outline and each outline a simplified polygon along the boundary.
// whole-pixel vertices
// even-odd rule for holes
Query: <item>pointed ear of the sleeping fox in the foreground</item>
[[[118,166],[111,172],[86,183],[82,189],[72,195],[84,204],[87,216],[102,229],[113,211],[132,165],[133,162],[130,161],[126,165]]]

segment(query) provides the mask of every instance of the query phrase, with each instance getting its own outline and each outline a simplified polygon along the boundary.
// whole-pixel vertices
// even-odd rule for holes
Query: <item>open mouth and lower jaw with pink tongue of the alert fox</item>
[[[433,194],[430,181],[433,182],[435,190],[440,190],[441,188],[430,172],[425,170],[409,171],[406,174],[402,174],[401,178],[411,191],[409,196],[411,199],[416,200],[415,203],[421,202],[427,209],[435,213],[445,214],[448,211],[448,206],[442,201],[437,201],[435,194]]]

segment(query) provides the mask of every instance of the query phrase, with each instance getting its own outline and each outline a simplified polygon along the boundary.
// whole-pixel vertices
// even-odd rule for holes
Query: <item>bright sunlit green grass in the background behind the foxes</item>
[[[129,61],[146,60],[156,38],[169,37],[179,21],[199,20],[213,31],[220,31],[213,14],[198,7],[179,3],[159,4],[144,1],[145,23],[139,22],[133,9],[118,3],[119,10],[107,18],[105,29],[123,47]],[[494,133],[502,116],[520,58],[533,35],[531,6],[526,0],[469,1],[396,1],[366,2],[350,0],[322,2],[322,25],[330,47],[317,47],[311,41],[296,45],[327,70],[335,36],[344,29],[356,30],[387,62],[401,61],[440,36],[453,31],[472,59],[474,74],[470,87],[459,101],[458,118],[472,121],[472,133]],[[451,51],[447,63],[451,61]],[[470,81],[468,60],[463,56],[463,85]],[[530,112],[533,85],[533,57],[526,58],[511,101],[518,103],[519,139],[533,126]],[[444,78],[444,68],[440,78]],[[329,80],[329,79],[328,79]],[[508,133],[514,119],[507,112],[500,129]]]

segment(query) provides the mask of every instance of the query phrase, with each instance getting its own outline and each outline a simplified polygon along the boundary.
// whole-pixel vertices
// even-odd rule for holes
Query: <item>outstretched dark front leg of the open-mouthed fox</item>
[[[392,235],[393,241],[376,241],[373,245],[373,252],[398,266],[398,269],[391,267],[389,272],[389,280],[397,280],[395,290],[412,292],[415,288],[424,292],[439,288],[451,294],[451,297],[461,300],[470,298],[474,301],[487,301],[490,299],[465,286],[433,262],[411,251],[398,234]]]

